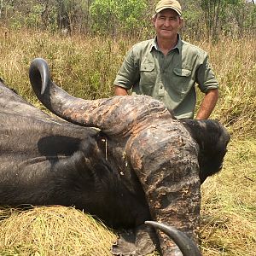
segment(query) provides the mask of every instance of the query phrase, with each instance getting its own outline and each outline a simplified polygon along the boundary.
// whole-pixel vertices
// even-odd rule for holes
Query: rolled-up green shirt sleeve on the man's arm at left
[[[136,60],[134,49],[131,48],[125,56],[125,60],[123,61],[123,64],[120,67],[113,84],[130,90],[132,86],[137,83],[138,80],[138,63]]]

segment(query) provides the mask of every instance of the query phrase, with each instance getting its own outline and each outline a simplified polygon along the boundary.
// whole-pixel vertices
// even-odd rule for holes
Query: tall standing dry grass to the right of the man
[[[223,38],[217,44],[200,42],[207,50],[220,84],[220,99],[212,118],[220,119],[239,137],[255,137],[256,38]]]

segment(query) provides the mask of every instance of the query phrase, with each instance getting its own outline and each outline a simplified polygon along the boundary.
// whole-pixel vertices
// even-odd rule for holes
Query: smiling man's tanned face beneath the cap
[[[157,38],[176,39],[183,20],[173,9],[164,9],[153,18]]]

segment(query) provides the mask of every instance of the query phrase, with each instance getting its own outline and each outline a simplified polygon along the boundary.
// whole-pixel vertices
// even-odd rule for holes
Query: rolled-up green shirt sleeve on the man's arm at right
[[[212,71],[207,53],[203,55],[201,65],[196,70],[196,83],[204,93],[208,90],[218,89],[218,81]]]

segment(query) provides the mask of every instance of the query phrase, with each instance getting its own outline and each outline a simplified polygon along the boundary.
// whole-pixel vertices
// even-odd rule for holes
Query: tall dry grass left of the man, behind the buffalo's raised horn
[[[71,38],[48,32],[0,31],[0,35],[0,75],[28,99],[33,97],[28,67],[36,57],[49,62],[55,83],[74,96],[110,96],[127,44],[125,40],[115,44],[108,38]]]

